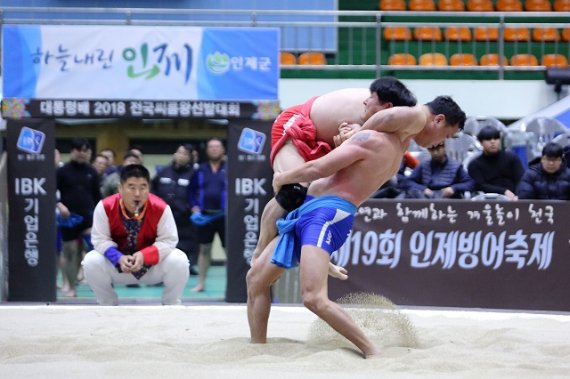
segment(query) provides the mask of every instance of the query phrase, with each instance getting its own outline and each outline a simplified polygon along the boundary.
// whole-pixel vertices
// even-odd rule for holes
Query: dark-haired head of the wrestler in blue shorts
[[[453,137],[465,125],[465,112],[449,96],[438,96],[427,103],[430,117],[424,129],[414,137],[423,147],[439,145],[446,138]]]

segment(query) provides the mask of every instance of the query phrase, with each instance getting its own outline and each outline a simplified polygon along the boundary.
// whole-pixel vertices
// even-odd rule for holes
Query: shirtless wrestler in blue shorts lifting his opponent
[[[463,127],[465,113],[451,98],[440,96],[426,105],[396,107],[373,117],[386,127],[417,132],[361,130],[330,154],[275,174],[276,191],[289,183],[311,184],[306,202],[280,221],[279,242],[275,238],[247,274],[251,342],[267,341],[271,284],[286,268],[300,262],[304,305],[354,343],[366,358],[379,354],[378,347],[342,307],[328,298],[330,254],[348,237],[357,206],[398,171],[410,139],[422,145],[438,144]]]

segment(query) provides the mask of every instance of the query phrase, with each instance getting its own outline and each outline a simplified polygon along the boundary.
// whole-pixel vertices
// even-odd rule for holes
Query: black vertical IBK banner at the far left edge
[[[8,300],[55,301],[55,125],[8,120]]]

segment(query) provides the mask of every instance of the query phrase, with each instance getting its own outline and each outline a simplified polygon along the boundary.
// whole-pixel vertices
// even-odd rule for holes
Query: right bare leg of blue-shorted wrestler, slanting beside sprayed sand
[[[328,296],[327,270],[329,255],[316,246],[304,245],[301,250],[300,285],[303,304],[334,330],[355,344],[365,358],[377,356],[380,350],[341,306]]]

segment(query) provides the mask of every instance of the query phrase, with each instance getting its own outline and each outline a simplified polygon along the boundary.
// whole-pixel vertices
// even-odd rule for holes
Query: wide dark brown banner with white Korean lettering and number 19
[[[331,299],[371,292],[400,305],[570,311],[570,203],[386,201],[359,207],[333,261]]]

